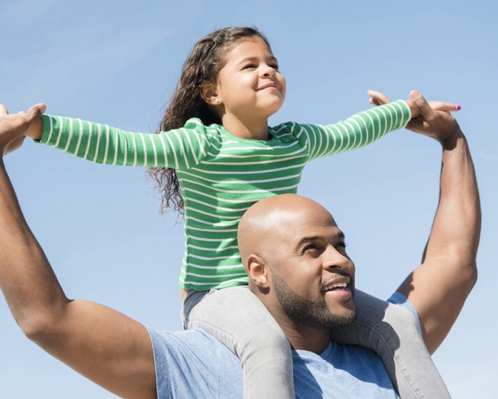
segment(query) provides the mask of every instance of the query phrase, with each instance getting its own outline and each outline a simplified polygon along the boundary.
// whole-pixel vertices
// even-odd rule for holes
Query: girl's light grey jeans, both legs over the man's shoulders
[[[289,342],[248,287],[189,294],[183,302],[184,325],[204,329],[239,357],[244,398],[295,397]],[[403,299],[398,294],[390,301]],[[425,347],[413,308],[410,312],[358,289],[355,303],[356,322],[332,329],[331,340],[377,352],[402,399],[451,398]]]

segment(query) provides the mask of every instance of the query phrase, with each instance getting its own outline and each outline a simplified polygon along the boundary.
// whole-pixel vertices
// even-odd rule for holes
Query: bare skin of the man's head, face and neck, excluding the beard
[[[331,315],[356,315],[352,296],[355,269],[346,253],[344,235],[329,211],[311,199],[285,194],[253,205],[239,223],[239,247],[250,289],[294,348],[323,352],[330,333],[287,315],[274,289],[276,276],[285,279],[301,298],[324,302]],[[335,280],[347,281],[347,288],[325,293],[324,287]]]

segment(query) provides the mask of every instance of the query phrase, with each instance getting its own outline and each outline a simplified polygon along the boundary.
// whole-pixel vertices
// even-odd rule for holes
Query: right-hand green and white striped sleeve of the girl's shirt
[[[299,125],[296,137],[305,139],[313,160],[367,146],[412,119],[403,100],[371,108],[332,125]],[[303,137],[301,137],[303,136]]]

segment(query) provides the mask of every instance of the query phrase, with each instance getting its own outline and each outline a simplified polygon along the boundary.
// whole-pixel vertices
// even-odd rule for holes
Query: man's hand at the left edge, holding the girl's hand
[[[0,104],[0,156],[15,151],[24,141],[29,130],[43,129],[41,115],[45,112],[45,104],[33,105],[28,112],[8,114],[5,105]]]

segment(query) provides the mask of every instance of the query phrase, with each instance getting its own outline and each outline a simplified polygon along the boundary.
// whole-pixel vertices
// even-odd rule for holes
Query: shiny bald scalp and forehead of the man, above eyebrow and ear
[[[332,215],[312,199],[297,194],[282,194],[262,199],[241,218],[238,230],[243,264],[251,253],[269,257],[279,242],[287,241],[303,227],[335,225]]]

